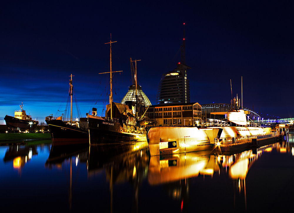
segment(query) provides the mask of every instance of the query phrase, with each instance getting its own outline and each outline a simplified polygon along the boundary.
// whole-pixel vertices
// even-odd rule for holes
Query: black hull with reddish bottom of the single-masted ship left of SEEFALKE
[[[62,120],[46,120],[51,132],[52,142],[57,145],[69,144],[89,144],[89,133],[86,129],[81,129]]]

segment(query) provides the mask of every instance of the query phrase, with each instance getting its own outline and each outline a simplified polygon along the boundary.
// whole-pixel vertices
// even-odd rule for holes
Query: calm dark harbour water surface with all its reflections
[[[130,152],[122,146],[62,148],[46,142],[0,146],[1,212],[293,209],[293,134],[234,155],[150,157],[142,143]]]

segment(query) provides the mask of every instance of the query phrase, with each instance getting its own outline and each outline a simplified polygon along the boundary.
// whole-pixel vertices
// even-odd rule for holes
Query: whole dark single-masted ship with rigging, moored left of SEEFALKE
[[[69,80],[69,97],[68,102],[70,99],[70,119],[66,118],[66,110],[63,116],[59,117],[53,117],[52,114],[49,116],[46,116],[45,121],[48,124],[50,133],[51,133],[51,139],[52,143],[55,146],[58,145],[72,145],[72,144],[89,144],[89,133],[88,133],[88,122],[87,118],[78,118],[73,119],[73,112],[72,112],[72,105],[73,105],[73,95],[74,89],[72,84],[72,77],[71,74],[69,77],[71,79]],[[74,95],[74,98],[76,100],[76,97]],[[80,113],[77,107],[78,116],[80,117]]]

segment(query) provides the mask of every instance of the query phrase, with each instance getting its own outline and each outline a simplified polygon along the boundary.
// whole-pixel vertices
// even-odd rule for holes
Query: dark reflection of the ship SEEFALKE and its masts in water
[[[131,183],[132,209],[138,212],[139,188],[147,177],[149,155],[147,142],[92,145],[89,152],[88,177],[105,173],[110,191],[110,212],[113,212],[114,185]],[[121,199],[120,199],[121,200]]]

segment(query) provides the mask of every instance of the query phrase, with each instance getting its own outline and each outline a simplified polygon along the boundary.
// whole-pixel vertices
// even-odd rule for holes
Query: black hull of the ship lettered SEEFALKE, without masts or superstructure
[[[88,125],[90,145],[147,141],[146,131],[138,131],[135,126],[133,129],[132,126],[123,128],[124,125],[121,123],[90,117]]]

